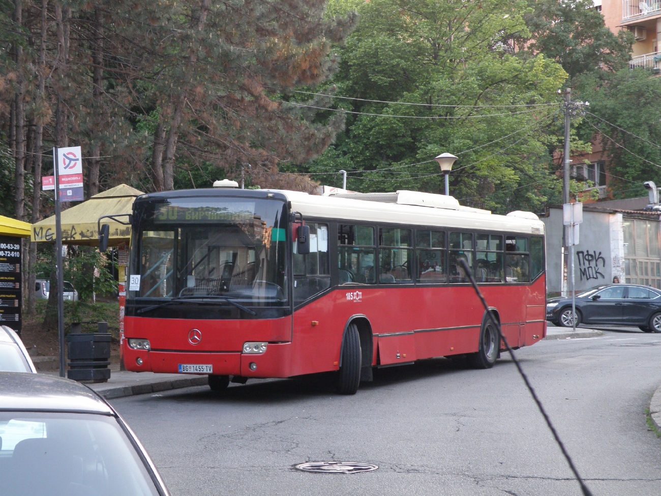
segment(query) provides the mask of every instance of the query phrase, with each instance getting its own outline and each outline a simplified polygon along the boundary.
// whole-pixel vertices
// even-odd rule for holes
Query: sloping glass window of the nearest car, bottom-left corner
[[[1,493],[157,496],[114,417],[0,411]]]

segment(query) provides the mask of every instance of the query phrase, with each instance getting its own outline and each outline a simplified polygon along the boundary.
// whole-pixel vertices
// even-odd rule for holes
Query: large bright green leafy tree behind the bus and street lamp
[[[336,108],[357,114],[305,170],[361,171],[350,173],[353,190],[442,192],[433,158],[450,151],[461,153],[453,196],[498,211],[541,208],[557,189],[545,128],[558,107],[544,104],[557,101],[566,73],[541,54],[515,53],[514,40],[529,36],[529,12],[527,3],[505,0],[360,5],[332,80],[338,96],[354,99],[336,99]],[[421,164],[403,167],[412,163]],[[336,174],[320,177],[339,185]]]

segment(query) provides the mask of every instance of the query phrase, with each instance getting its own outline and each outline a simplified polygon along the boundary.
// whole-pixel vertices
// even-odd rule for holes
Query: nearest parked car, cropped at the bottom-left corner
[[[0,494],[169,495],[102,397],[72,380],[24,372],[0,373]]]

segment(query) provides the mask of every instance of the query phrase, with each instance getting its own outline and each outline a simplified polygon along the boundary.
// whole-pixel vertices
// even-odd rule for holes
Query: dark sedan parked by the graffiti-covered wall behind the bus
[[[572,299],[551,298],[546,319],[572,327]],[[661,333],[661,290],[635,284],[603,284],[576,295],[576,325],[635,325],[646,333]]]

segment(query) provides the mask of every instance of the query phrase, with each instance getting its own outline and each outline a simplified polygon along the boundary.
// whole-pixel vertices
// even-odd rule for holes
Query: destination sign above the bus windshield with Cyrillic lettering
[[[173,222],[253,222],[254,202],[228,203],[223,206],[157,205],[155,224]]]

